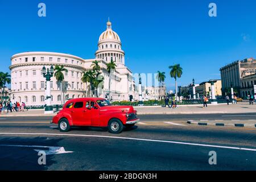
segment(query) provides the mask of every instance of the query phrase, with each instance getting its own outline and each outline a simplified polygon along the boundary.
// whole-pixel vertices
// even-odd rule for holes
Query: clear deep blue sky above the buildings
[[[38,4],[46,3],[39,18]],[[217,5],[209,17],[208,5]],[[220,67],[256,57],[256,1],[65,1],[0,0],[0,71],[10,57],[26,51],[71,53],[94,58],[98,37],[110,17],[134,73],[166,72],[168,89],[175,82],[168,66],[179,63],[179,85],[220,78]]]

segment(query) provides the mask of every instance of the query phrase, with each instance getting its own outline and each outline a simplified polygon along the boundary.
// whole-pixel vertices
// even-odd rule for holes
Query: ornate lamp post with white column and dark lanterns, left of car
[[[44,110],[44,114],[53,114],[53,107],[51,105],[51,77],[53,77],[53,66],[51,68],[43,67],[43,76],[46,78],[46,109]]]

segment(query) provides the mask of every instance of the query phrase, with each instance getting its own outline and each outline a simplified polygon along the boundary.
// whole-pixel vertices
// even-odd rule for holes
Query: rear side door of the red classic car
[[[77,101],[72,109],[72,120],[75,126],[88,126],[90,125],[90,112],[86,109],[86,102]]]

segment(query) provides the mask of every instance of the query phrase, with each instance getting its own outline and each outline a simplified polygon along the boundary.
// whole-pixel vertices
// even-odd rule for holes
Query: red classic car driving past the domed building
[[[104,98],[69,100],[51,121],[61,132],[69,131],[72,126],[97,126],[108,127],[114,134],[121,133],[123,126],[132,127],[138,122],[132,106],[111,106]]]

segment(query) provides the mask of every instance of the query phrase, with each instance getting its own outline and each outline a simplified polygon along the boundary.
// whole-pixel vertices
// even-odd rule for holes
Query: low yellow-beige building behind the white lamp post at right
[[[215,87],[215,96],[222,96],[221,94],[221,80],[214,80],[214,87]],[[210,93],[210,82],[205,81],[196,86],[196,95],[199,93],[199,97],[202,98],[203,96],[209,96]]]

